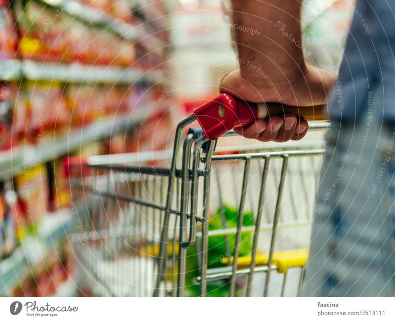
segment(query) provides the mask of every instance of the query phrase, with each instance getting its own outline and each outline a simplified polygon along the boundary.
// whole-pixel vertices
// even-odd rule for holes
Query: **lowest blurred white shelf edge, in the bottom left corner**
[[[0,295],[7,296],[18,284],[29,277],[54,250],[73,226],[73,213],[66,209],[58,213],[47,213],[41,220],[35,236],[26,237],[10,257],[0,262]]]

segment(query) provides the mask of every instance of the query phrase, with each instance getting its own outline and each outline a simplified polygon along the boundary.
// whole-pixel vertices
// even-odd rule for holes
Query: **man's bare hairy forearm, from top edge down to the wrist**
[[[300,0],[232,0],[232,34],[240,76],[251,84],[267,75],[290,81],[303,73]]]

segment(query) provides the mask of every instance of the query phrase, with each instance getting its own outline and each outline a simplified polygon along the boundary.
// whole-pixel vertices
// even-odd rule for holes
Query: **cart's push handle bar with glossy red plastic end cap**
[[[238,126],[248,126],[259,118],[291,113],[306,120],[327,120],[326,105],[309,107],[288,106],[280,103],[253,103],[221,93],[213,100],[194,109],[194,115],[204,135],[217,139]]]

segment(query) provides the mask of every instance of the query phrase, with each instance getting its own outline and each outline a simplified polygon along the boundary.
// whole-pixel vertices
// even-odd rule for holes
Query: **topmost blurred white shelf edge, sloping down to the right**
[[[115,20],[105,12],[83,5],[74,0],[37,0],[54,9],[65,11],[72,17],[91,25],[102,25],[110,28],[119,37],[134,42],[141,42],[150,52],[160,50],[165,43],[153,34],[146,31],[144,25],[134,26],[120,20]]]

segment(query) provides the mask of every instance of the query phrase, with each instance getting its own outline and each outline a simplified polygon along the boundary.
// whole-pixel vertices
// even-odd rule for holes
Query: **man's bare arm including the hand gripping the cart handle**
[[[305,63],[300,11],[300,0],[232,0],[239,69],[223,79],[221,92],[296,106],[327,102],[335,77]],[[304,119],[287,114],[237,131],[249,138],[285,141],[304,137],[307,129]]]

